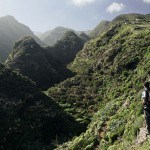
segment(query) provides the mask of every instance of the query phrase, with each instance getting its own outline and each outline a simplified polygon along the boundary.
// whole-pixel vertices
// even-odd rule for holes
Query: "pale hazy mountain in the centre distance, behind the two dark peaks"
[[[49,46],[53,46],[56,44],[58,40],[60,40],[65,35],[67,31],[73,30],[64,27],[56,27],[53,30],[43,33],[42,35],[39,36],[39,38]]]

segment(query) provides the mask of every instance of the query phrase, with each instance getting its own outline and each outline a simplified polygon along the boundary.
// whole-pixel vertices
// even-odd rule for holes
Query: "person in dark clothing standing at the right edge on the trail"
[[[150,134],[150,83],[145,82],[143,86],[144,86],[144,91],[142,92],[143,109],[146,120],[146,128],[148,134]]]

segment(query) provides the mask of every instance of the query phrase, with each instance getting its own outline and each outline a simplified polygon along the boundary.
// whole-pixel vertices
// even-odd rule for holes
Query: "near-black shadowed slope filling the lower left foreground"
[[[82,130],[31,80],[0,64],[1,150],[50,150]]]

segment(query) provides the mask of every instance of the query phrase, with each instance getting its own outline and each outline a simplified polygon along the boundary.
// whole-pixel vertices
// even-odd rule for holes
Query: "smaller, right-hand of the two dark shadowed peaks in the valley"
[[[83,48],[86,38],[85,36],[81,38],[74,32],[68,31],[54,46],[48,47],[47,51],[61,63],[68,64],[74,60],[76,54]]]

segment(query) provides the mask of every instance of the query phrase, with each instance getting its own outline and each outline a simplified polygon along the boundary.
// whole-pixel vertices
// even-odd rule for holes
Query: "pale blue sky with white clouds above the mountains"
[[[38,32],[57,26],[91,30],[127,13],[150,14],[150,0],[0,0],[0,17],[14,16]]]

